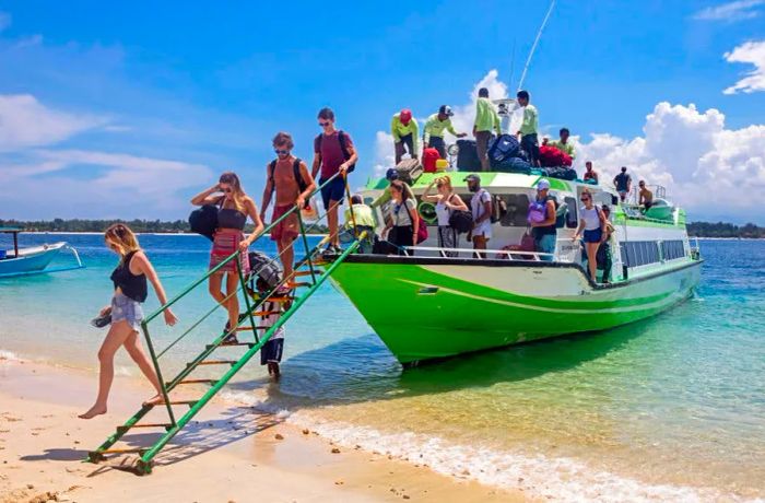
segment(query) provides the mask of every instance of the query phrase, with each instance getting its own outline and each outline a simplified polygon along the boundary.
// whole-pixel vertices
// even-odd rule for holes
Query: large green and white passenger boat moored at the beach
[[[467,174],[446,173],[469,201]],[[415,196],[434,176],[440,174],[424,174],[413,184]],[[637,321],[687,299],[699,281],[702,259],[680,208],[667,203],[664,218],[650,218],[634,204],[619,203],[611,189],[548,178],[562,218],[554,258],[542,261],[539,254],[503,249],[519,245],[527,232],[528,203],[542,176],[479,176],[495,203],[506,208],[493,224],[486,258],[474,256],[464,235],[450,250],[458,256],[445,256],[432,226],[428,239],[407,256],[350,255],[331,276],[404,365]],[[375,198],[386,186],[385,179],[370,180],[363,196]],[[612,208],[610,284],[589,279],[580,245],[573,241],[585,188],[598,204]]]

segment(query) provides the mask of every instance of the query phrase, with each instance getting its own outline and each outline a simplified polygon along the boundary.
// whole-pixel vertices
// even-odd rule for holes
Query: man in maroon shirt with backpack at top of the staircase
[[[316,177],[319,168],[321,169],[319,186],[321,186],[321,200],[325,204],[325,210],[327,210],[327,223],[329,225],[329,244],[326,253],[339,254],[342,253],[342,249],[340,248],[340,235],[338,232],[338,207],[343,203],[345,177],[356,166],[358,155],[353,147],[351,136],[345,131],[334,129],[334,112],[331,108],[321,108],[318,119],[321,133],[314,140],[311,175]],[[334,178],[332,178],[333,176]],[[325,185],[330,178],[332,180]]]

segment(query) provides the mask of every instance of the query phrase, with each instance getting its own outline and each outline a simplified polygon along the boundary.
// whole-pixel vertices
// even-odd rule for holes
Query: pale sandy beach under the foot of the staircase
[[[109,412],[80,420],[95,385],[92,372],[0,360],[0,502],[526,501],[522,492],[340,448],[276,416],[222,401],[176,437],[150,476],[127,469],[130,455],[82,463],[146,394],[142,383],[117,377]],[[127,436],[138,446],[142,435]]]

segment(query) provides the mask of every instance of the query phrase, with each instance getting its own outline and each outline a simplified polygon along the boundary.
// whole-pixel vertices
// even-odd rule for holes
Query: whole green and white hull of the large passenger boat
[[[332,274],[403,364],[603,330],[686,299],[701,261],[599,286],[578,265],[353,256]]]

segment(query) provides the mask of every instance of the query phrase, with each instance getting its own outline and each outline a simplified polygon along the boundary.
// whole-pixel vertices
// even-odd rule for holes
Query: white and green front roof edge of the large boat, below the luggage
[[[484,188],[534,188],[539,180],[546,178],[550,182],[550,188],[553,190],[576,191],[577,185],[584,185],[592,189],[602,189],[599,185],[584,183],[582,180],[564,180],[544,175],[525,175],[521,173],[498,173],[498,172],[443,172],[443,173],[423,173],[412,184],[413,189],[424,189],[439,176],[448,176],[451,179],[451,186],[455,188],[468,187],[464,178],[468,175],[478,175],[481,178],[481,187]],[[385,177],[369,178],[366,184],[367,190],[382,190],[388,187],[388,180]]]

